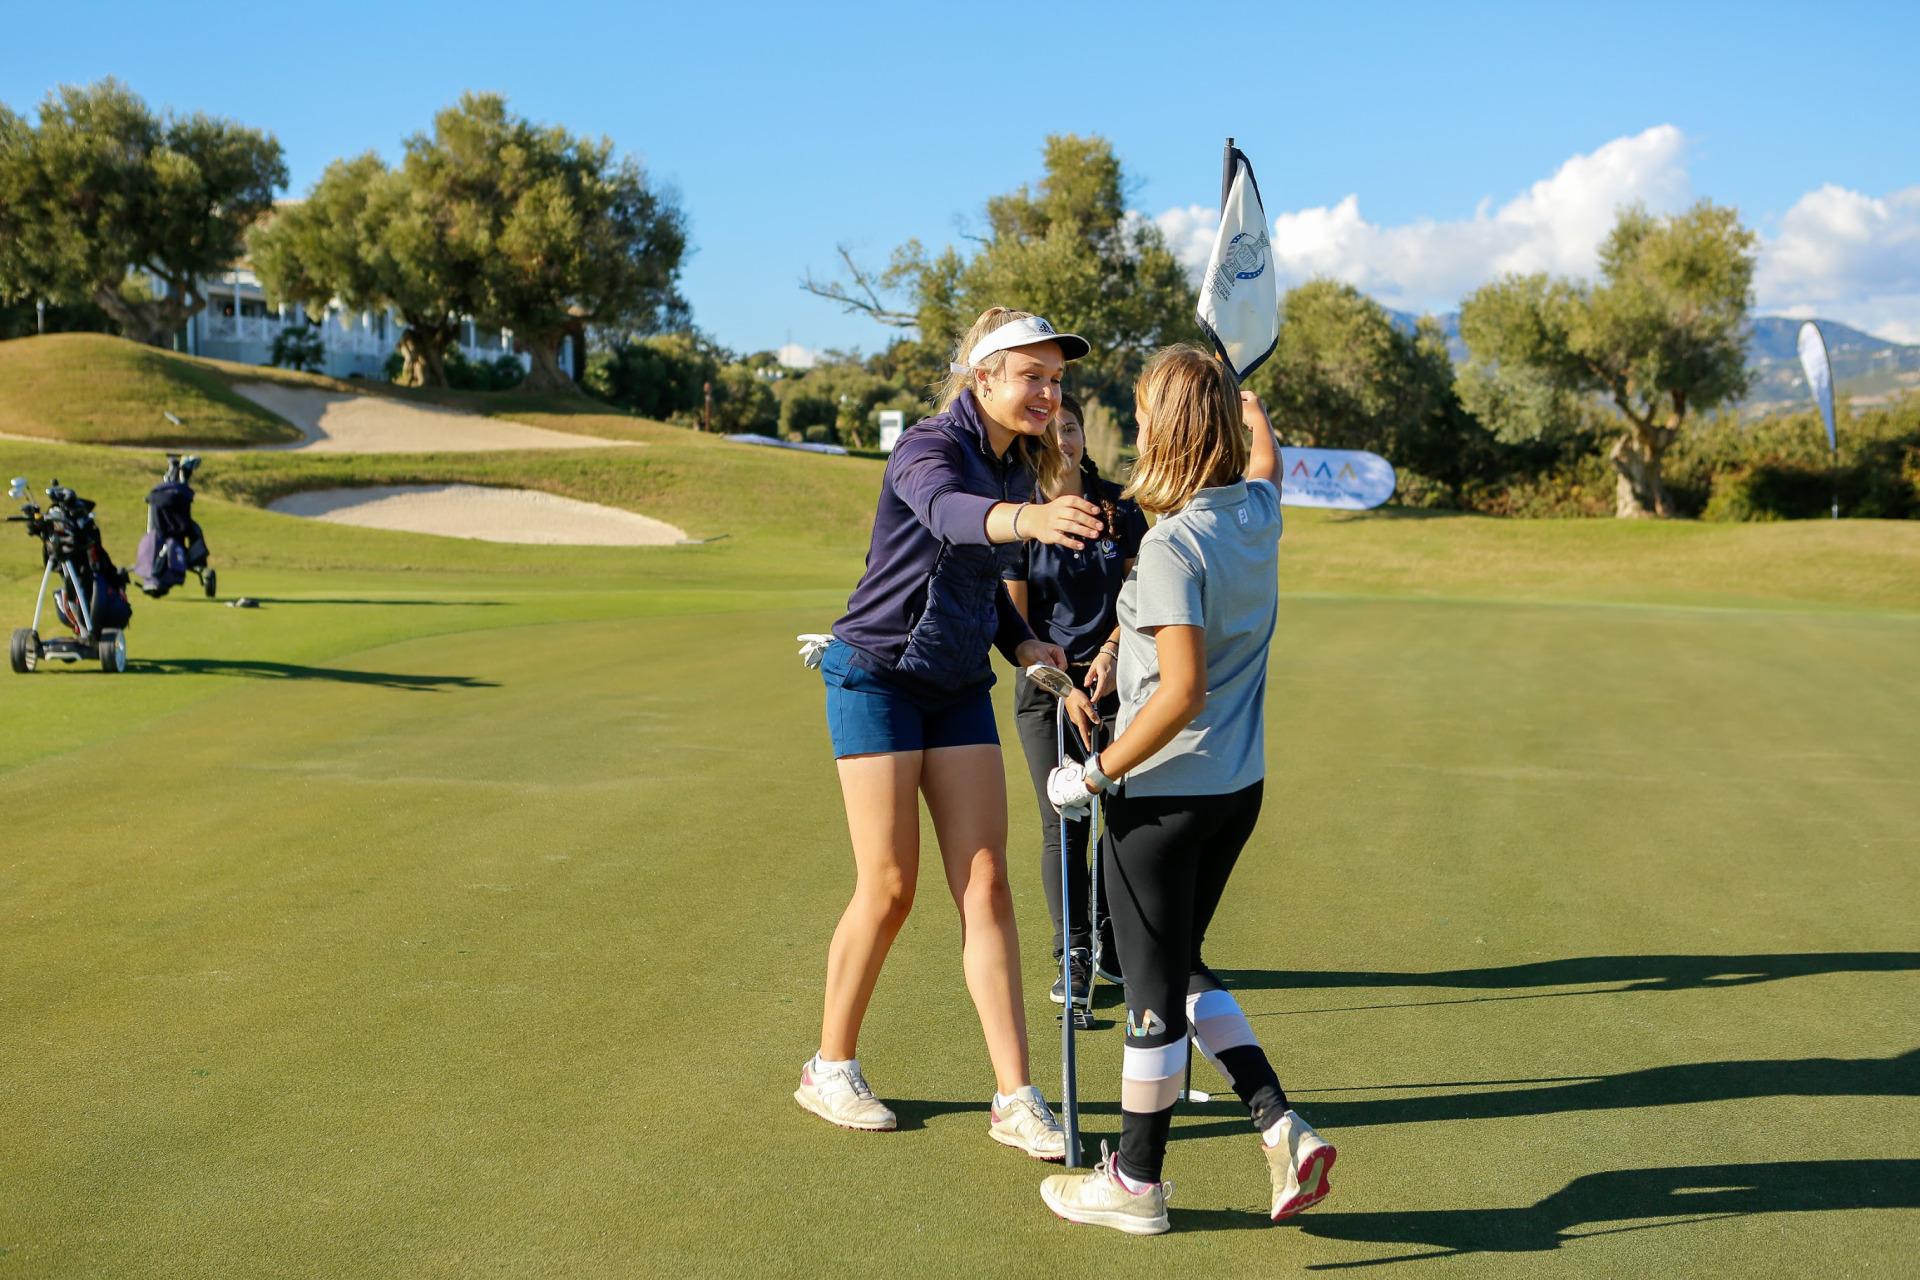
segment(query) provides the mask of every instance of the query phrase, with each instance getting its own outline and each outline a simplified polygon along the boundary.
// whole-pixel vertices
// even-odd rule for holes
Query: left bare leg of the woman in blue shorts
[[[839,764],[847,831],[852,837],[856,881],[828,946],[826,1013],[820,1055],[841,1061],[858,1055],[860,1023],[879,983],[879,967],[914,908],[920,877],[920,760],[918,750],[845,756]],[[1006,804],[1000,804],[1002,827]]]

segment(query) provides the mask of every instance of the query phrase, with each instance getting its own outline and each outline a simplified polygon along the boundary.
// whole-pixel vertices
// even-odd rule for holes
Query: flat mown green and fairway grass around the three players
[[[131,532],[131,464],[61,457]],[[854,497],[877,474],[768,464],[816,462]],[[730,543],[570,553],[202,518],[223,593],[265,608],[142,599],[127,676],[0,674],[0,1276],[1912,1267],[1905,526],[1296,522],[1269,804],[1210,958],[1340,1146],[1336,1194],[1267,1224],[1215,1102],[1175,1121],[1175,1234],[1127,1240],[1058,1222],[1044,1167],[987,1142],[937,869],[862,1042],[902,1132],[791,1102],[851,885],[791,637],[837,614],[856,537],[749,512]],[[8,626],[35,583],[12,537]],[[1083,1040],[1094,1144],[1114,996]]]

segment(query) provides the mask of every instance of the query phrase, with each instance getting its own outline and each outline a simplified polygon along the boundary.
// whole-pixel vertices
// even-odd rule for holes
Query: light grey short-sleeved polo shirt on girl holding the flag
[[[1162,516],[1119,589],[1119,731],[1160,687],[1148,628],[1206,628],[1206,710],[1127,773],[1129,796],[1217,796],[1267,775],[1267,649],[1279,610],[1281,493],[1200,489]]]

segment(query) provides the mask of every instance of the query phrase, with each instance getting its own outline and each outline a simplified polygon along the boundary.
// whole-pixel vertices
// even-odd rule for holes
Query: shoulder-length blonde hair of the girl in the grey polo
[[[1233,372],[1200,347],[1156,351],[1133,391],[1146,447],[1125,497],[1156,516],[1179,510],[1200,489],[1246,474],[1246,430]]]

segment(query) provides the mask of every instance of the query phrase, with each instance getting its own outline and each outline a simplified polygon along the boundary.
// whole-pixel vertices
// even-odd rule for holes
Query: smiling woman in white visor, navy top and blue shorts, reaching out
[[[941,413],[895,445],[866,572],[833,624],[820,672],[852,835],[854,892],[828,948],[820,1052],[795,1102],[847,1128],[893,1128],[856,1057],[860,1023],[920,875],[920,796],[960,908],[962,967],[993,1059],[989,1136],[1062,1159],[1066,1136],[1027,1071],[1020,933],[1006,881],[1006,766],[989,649],[1027,666],[1066,660],[1035,639],[1000,581],[1006,549],[1083,549],[1102,537],[1083,497],[1031,501],[1062,466],[1052,438],[1066,363],[1087,342],[995,307],[962,338]],[[1075,699],[1077,722],[1092,706]]]

